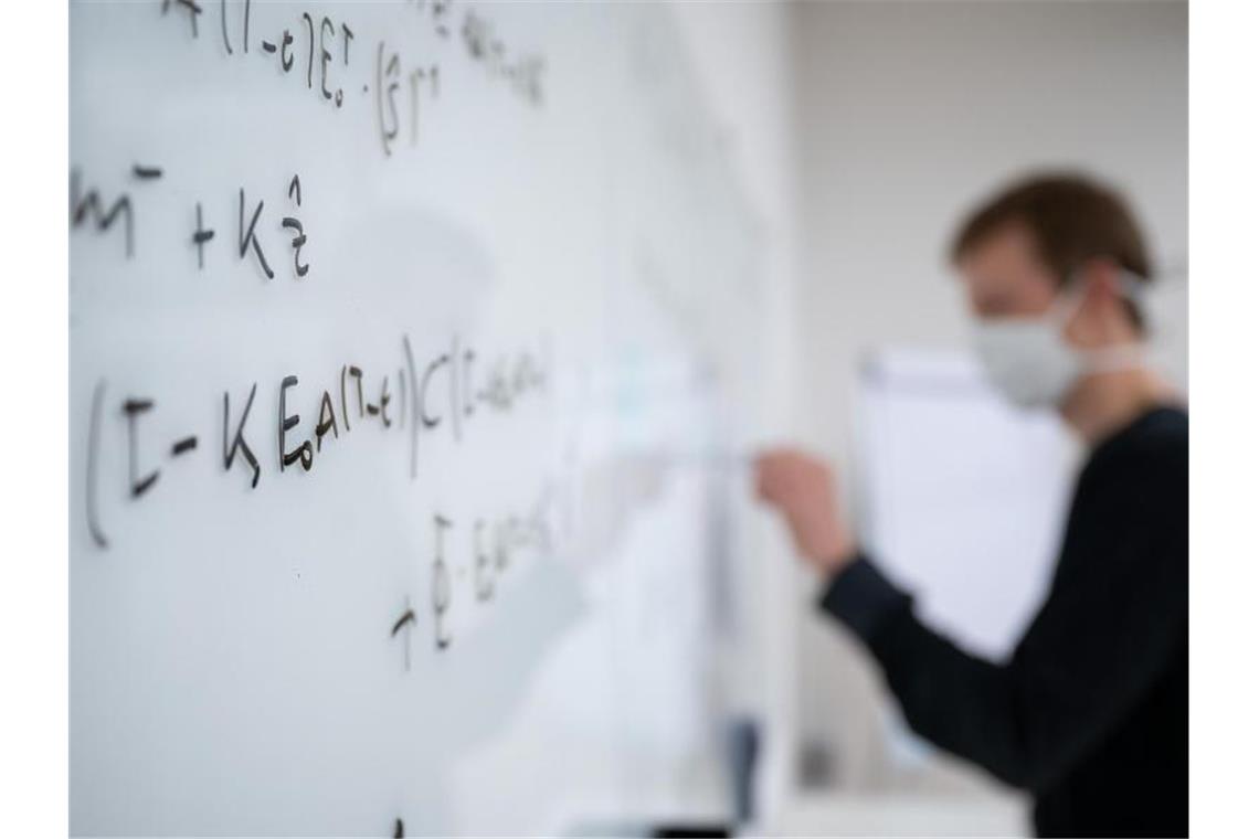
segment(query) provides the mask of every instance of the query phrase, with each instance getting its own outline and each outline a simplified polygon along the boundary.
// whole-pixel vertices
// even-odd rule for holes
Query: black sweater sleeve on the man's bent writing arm
[[[915,732],[1007,784],[1044,789],[1187,643],[1187,473],[1138,477],[1093,493],[1007,663],[924,626],[912,599],[864,556],[831,581],[821,606],[866,643]]]

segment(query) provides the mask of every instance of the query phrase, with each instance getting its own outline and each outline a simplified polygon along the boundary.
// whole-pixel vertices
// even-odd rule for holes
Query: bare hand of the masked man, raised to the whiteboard
[[[787,520],[796,550],[818,571],[833,574],[855,543],[840,517],[831,469],[796,449],[771,449],[755,460],[757,494]]]

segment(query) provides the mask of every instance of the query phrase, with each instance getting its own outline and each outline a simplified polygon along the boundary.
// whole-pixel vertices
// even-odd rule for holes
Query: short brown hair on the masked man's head
[[[1139,279],[1149,279],[1146,243],[1127,201],[1084,175],[1034,175],[983,201],[953,238],[953,263],[1010,224],[1026,225],[1059,284],[1097,258],[1113,259]],[[1127,308],[1137,327],[1143,327],[1141,312],[1132,304]]]

